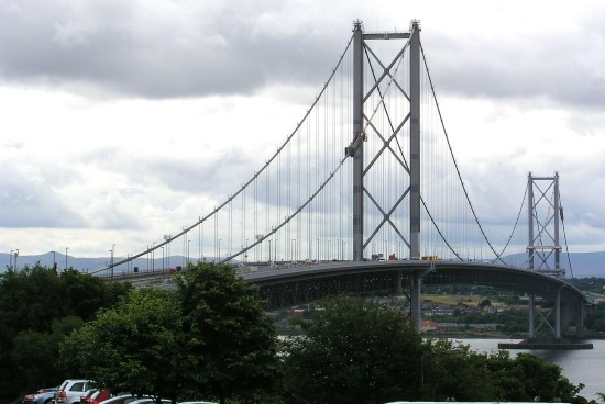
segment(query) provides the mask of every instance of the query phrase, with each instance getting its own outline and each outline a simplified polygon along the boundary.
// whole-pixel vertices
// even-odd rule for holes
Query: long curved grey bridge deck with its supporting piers
[[[173,270],[174,272],[174,270]],[[411,318],[419,330],[422,285],[485,285],[516,291],[552,302],[556,337],[582,336],[586,296],[564,279],[504,265],[477,261],[323,261],[280,265],[239,265],[238,273],[257,284],[275,310],[312,302],[342,293],[359,295],[405,294],[411,304]],[[157,284],[170,276],[167,270],[120,273],[108,281],[134,285]],[[529,328],[534,327],[534,305],[529,304]],[[532,334],[531,334],[532,335]]]

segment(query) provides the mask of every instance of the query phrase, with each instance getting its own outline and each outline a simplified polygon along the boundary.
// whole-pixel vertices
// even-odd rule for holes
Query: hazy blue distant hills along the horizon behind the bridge
[[[160,255],[160,258],[157,258]],[[57,262],[59,269],[65,268],[65,254],[55,252],[54,259]],[[94,272],[95,270],[105,268],[109,261],[110,257],[100,257],[100,258],[77,258],[77,257],[67,257],[67,266],[74,267],[82,272]],[[118,261],[118,259],[114,259]],[[209,257],[209,261],[212,261],[213,258]],[[505,262],[513,266],[525,267],[527,266],[527,255],[525,254],[515,254],[506,256],[504,258]],[[569,262],[571,261],[571,271]],[[3,271],[10,262],[10,254],[0,252],[0,271]],[[40,262],[43,266],[52,267],[53,266],[53,252],[46,252],[38,256],[19,256],[16,258],[16,263],[21,268],[25,265],[34,266],[36,262]],[[173,256],[169,258],[169,266],[176,268],[177,266],[184,266],[185,259],[183,256]],[[152,268],[151,260],[147,260],[145,257],[134,260],[134,262],[127,268],[125,265],[120,268],[116,268],[117,272],[121,271],[132,271],[134,267],[139,267],[141,270],[146,270]],[[162,268],[162,256],[156,254],[153,268]],[[572,252],[568,259],[566,254],[561,254],[561,268],[564,268],[566,271],[566,277],[571,278],[605,278],[605,251],[598,252]]]

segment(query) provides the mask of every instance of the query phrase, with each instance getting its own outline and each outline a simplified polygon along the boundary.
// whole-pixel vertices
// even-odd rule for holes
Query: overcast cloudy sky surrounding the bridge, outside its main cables
[[[528,171],[558,171],[570,250],[605,250],[603,1],[0,0],[0,251],[123,256],[191,224],[292,132],[358,19],[420,20],[480,216],[507,194],[514,220]]]

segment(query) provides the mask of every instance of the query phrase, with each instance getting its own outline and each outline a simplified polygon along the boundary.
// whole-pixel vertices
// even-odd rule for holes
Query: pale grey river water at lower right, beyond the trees
[[[454,339],[466,344],[479,352],[492,354],[497,351],[498,343],[518,343],[519,339]],[[557,363],[563,370],[563,374],[573,384],[584,384],[580,395],[598,401],[596,393],[605,393],[605,340],[592,339],[593,349],[579,350],[527,350],[510,349],[512,356],[518,352],[528,352],[539,356],[549,362]]]

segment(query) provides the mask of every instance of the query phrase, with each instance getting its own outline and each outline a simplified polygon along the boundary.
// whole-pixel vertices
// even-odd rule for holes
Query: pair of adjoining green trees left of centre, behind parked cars
[[[276,335],[257,288],[229,266],[199,263],[177,291],[132,292],[73,333],[63,363],[113,391],[177,399],[263,400]]]

